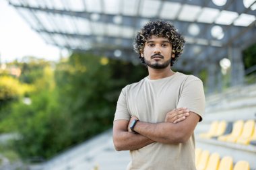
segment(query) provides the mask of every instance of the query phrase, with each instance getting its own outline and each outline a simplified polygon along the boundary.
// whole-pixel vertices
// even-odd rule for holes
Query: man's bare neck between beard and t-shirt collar
[[[166,67],[165,69],[152,69],[148,67],[148,76],[151,80],[163,79],[172,75],[174,75],[174,71],[170,67]]]

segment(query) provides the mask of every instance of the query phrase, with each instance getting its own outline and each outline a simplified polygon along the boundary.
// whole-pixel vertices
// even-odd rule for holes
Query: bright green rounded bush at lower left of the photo
[[[22,136],[13,146],[23,158],[49,158],[69,146],[69,120],[60,112],[55,91],[40,91],[32,102],[13,105],[12,124]]]

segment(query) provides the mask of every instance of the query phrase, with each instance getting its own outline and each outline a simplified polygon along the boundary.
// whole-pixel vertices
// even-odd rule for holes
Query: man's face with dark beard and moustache
[[[164,69],[170,66],[172,44],[167,38],[152,36],[145,43],[141,56],[144,57],[146,65],[152,69]]]

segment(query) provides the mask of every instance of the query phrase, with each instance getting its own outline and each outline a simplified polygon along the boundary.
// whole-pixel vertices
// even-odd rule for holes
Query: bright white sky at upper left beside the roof
[[[21,60],[23,56],[57,61],[61,54],[67,52],[46,44],[14,7],[0,0],[0,62]]]

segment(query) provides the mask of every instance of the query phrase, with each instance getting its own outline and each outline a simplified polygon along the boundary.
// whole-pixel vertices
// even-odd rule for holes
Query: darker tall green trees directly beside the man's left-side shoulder
[[[65,96],[63,112],[73,122],[73,143],[110,128],[121,88],[146,73],[127,62],[109,60],[108,65],[100,65],[100,61],[92,54],[75,53],[69,62],[57,66],[57,86]]]

